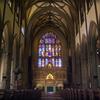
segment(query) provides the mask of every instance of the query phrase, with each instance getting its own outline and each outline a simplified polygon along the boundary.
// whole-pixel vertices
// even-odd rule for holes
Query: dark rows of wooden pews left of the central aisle
[[[40,100],[41,90],[5,90],[0,100]]]

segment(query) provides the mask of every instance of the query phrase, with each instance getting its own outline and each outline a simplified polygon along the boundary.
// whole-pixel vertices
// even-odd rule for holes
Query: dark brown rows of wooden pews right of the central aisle
[[[66,88],[60,94],[64,100],[100,100],[100,89]]]

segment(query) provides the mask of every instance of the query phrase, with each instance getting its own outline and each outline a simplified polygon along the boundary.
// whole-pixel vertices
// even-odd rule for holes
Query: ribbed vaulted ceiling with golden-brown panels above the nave
[[[84,0],[83,0],[84,1]],[[81,0],[26,0],[27,24],[35,33],[53,27],[64,37],[73,33],[74,21],[78,20]],[[76,20],[77,19],[77,20]]]

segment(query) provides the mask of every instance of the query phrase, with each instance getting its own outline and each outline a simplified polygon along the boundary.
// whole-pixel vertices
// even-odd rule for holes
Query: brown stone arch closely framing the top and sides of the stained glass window
[[[46,30],[43,30],[43,31],[40,31],[39,33],[37,33],[37,36],[34,38],[34,40],[32,42],[32,50],[34,51],[34,56],[33,56],[34,61],[35,62],[37,61],[37,51],[38,51],[39,40],[47,32],[54,33],[58,37],[58,39],[61,41],[62,51],[63,51],[63,58],[65,60],[65,61],[63,61],[63,63],[64,63],[64,65],[67,65],[67,60],[65,59],[66,56],[68,55],[68,52],[67,52],[68,49],[67,49],[67,45],[66,45],[66,40],[58,30],[56,31],[54,29],[53,30],[52,29],[46,29]]]

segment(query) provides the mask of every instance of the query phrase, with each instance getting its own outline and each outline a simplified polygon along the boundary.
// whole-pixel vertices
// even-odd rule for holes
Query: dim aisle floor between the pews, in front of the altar
[[[63,100],[59,93],[42,93],[41,100]]]

